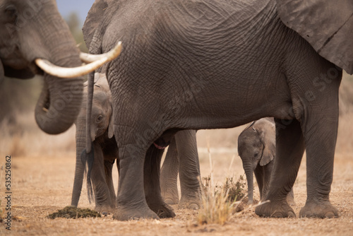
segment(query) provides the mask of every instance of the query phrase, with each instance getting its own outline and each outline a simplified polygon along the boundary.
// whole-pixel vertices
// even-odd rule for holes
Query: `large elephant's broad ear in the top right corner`
[[[277,0],[277,11],[321,57],[353,73],[352,0]]]

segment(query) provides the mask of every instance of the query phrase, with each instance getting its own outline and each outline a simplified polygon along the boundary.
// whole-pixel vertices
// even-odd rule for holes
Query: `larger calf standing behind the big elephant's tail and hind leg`
[[[87,83],[83,88],[83,100],[87,99]],[[85,165],[81,153],[85,148],[86,103],[82,103],[76,119],[76,170],[71,199],[72,206],[78,206],[83,184]],[[112,179],[112,167],[118,158],[118,147],[113,137],[112,125],[112,95],[107,79],[100,73],[95,74],[95,93],[92,102],[91,138],[94,157],[88,161],[88,196],[90,199],[90,180],[95,193],[95,210],[111,212],[115,208],[116,196]],[[119,170],[119,162],[116,162]]]

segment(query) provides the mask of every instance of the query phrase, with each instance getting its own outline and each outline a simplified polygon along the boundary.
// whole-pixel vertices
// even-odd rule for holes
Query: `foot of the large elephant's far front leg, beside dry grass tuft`
[[[256,206],[255,213],[261,217],[273,218],[295,218],[293,209],[288,205],[287,201],[270,201]]]

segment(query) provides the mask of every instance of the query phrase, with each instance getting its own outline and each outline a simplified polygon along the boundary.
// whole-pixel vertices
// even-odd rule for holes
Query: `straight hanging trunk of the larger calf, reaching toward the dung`
[[[80,194],[83,184],[83,175],[85,172],[85,166],[81,160],[81,153],[85,148],[85,130],[83,127],[78,127],[76,124],[76,167],[75,167],[75,179],[73,181],[73,191],[71,197],[71,206],[78,206],[80,200]]]

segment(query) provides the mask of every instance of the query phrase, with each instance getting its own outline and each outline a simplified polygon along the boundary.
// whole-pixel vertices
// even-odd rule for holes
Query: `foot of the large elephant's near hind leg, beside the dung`
[[[116,207],[113,215],[114,220],[136,220],[136,219],[156,219],[160,218],[156,213],[150,210],[148,206],[140,206],[138,208],[126,208],[122,206]]]

